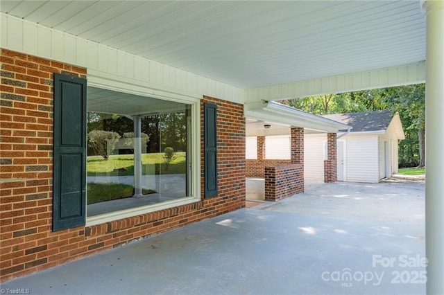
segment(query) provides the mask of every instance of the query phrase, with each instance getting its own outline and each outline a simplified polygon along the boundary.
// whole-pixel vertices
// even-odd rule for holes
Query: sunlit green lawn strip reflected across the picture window
[[[142,154],[142,175],[180,174],[185,173],[185,152],[176,152],[166,169],[164,153]],[[134,158],[132,154],[110,156],[108,160],[100,156],[87,158],[88,176],[128,176],[134,175]]]

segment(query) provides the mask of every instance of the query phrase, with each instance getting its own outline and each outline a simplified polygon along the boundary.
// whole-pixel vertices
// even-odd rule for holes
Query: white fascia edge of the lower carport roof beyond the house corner
[[[259,101],[245,105],[246,118],[255,118],[267,122],[303,127],[319,132],[337,133],[341,129],[351,129],[350,126],[321,116],[309,114],[278,102]]]

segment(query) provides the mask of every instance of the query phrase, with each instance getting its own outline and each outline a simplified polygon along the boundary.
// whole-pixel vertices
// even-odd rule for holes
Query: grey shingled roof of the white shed
[[[352,128],[351,132],[377,132],[386,131],[393,113],[386,109],[383,111],[361,111],[359,113],[324,115],[329,118],[347,124]]]

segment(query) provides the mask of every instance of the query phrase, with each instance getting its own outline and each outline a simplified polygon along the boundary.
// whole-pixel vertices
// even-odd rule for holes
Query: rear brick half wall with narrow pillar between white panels
[[[268,166],[287,165],[291,160],[272,160],[265,158],[265,136],[257,136],[257,159],[246,159],[246,177],[265,177]]]

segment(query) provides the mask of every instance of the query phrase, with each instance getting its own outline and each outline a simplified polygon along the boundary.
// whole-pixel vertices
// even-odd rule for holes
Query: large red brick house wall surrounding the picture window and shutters
[[[52,232],[53,73],[85,77],[86,70],[5,49],[0,59],[0,281],[245,206],[242,105],[204,98],[218,105],[217,197]]]

